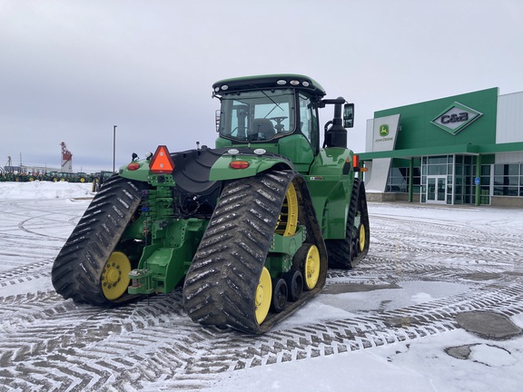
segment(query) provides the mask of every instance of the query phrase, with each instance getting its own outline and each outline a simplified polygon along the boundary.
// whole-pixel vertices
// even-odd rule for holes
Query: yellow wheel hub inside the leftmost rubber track
[[[131,261],[121,251],[113,251],[102,272],[102,290],[109,300],[119,299],[129,286]]]

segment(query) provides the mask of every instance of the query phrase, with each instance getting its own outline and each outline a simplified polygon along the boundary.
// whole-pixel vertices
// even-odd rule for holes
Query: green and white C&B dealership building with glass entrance
[[[523,92],[375,112],[361,161],[371,201],[523,207]]]

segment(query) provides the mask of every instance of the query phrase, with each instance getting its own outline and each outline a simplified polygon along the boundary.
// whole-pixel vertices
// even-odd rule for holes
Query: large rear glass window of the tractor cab
[[[241,142],[262,142],[294,131],[291,89],[229,93],[222,96],[220,135]]]

